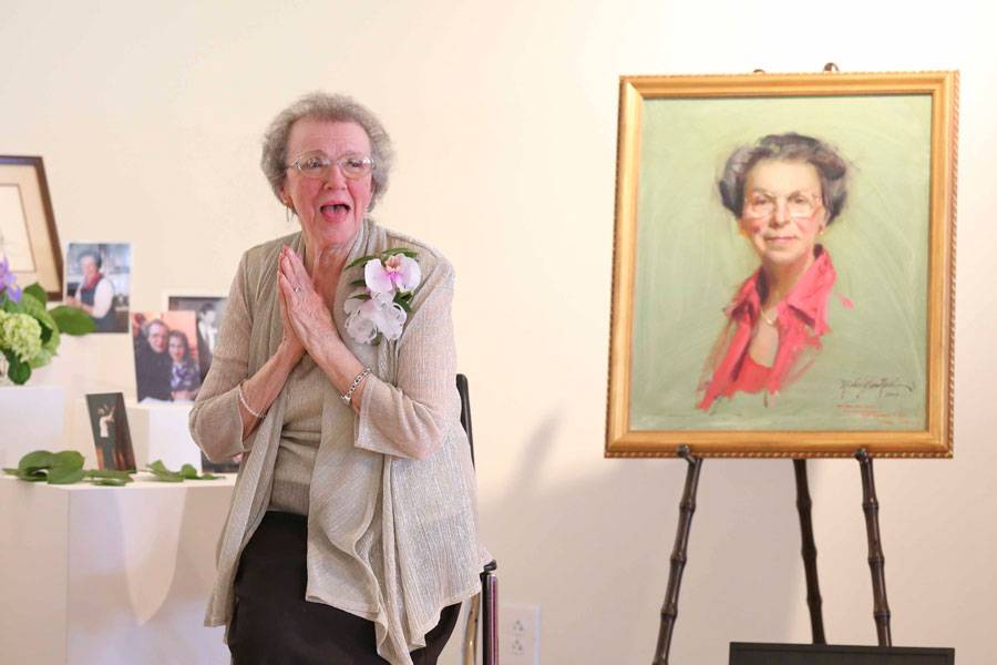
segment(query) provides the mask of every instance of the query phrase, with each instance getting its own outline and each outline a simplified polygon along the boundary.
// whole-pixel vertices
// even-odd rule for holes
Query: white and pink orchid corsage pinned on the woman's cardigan
[[[417,256],[412,249],[395,247],[361,256],[343,268],[363,266],[363,279],[350,283],[359,288],[343,305],[350,337],[360,344],[378,344],[382,336],[388,341],[401,337],[415,287],[422,282]]]

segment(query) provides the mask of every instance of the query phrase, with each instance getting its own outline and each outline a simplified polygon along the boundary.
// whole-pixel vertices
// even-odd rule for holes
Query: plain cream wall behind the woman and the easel
[[[37,2],[0,19],[0,154],[44,156],[65,241],[134,244],[133,305],[225,290],[290,231],[259,135],[311,89],[398,147],[378,218],[459,275],[484,534],[502,595],[543,608],[543,662],[647,663],[683,464],[604,460],[623,73],[962,70],[956,459],[876,466],[896,644],[993,659],[997,41],[972,2],[703,0]],[[895,6],[895,7],[894,7]],[[192,237],[196,241],[192,242]],[[134,390],[123,336],[70,340],[41,381]],[[873,643],[859,470],[812,466],[828,635]],[[809,638],[788,461],[703,468],[674,662]],[[451,662],[453,662],[451,657]]]

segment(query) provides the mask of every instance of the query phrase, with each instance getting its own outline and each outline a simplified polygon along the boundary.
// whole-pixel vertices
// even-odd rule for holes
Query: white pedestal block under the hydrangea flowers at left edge
[[[32,450],[65,441],[65,390],[58,386],[0,387],[0,467],[17,467]]]

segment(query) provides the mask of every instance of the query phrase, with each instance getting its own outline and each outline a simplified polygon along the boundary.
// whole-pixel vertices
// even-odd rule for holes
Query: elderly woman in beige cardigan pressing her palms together
[[[261,165],[301,231],[243,255],[191,412],[210,460],[246,453],[206,623],[228,625],[237,664],[435,663],[490,559],[453,269],[368,216],[391,146],[349,98],[282,111]]]

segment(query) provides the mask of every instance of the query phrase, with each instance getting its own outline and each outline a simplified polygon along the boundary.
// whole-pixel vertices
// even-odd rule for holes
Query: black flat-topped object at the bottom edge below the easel
[[[731,642],[730,665],[955,665],[955,649]]]

